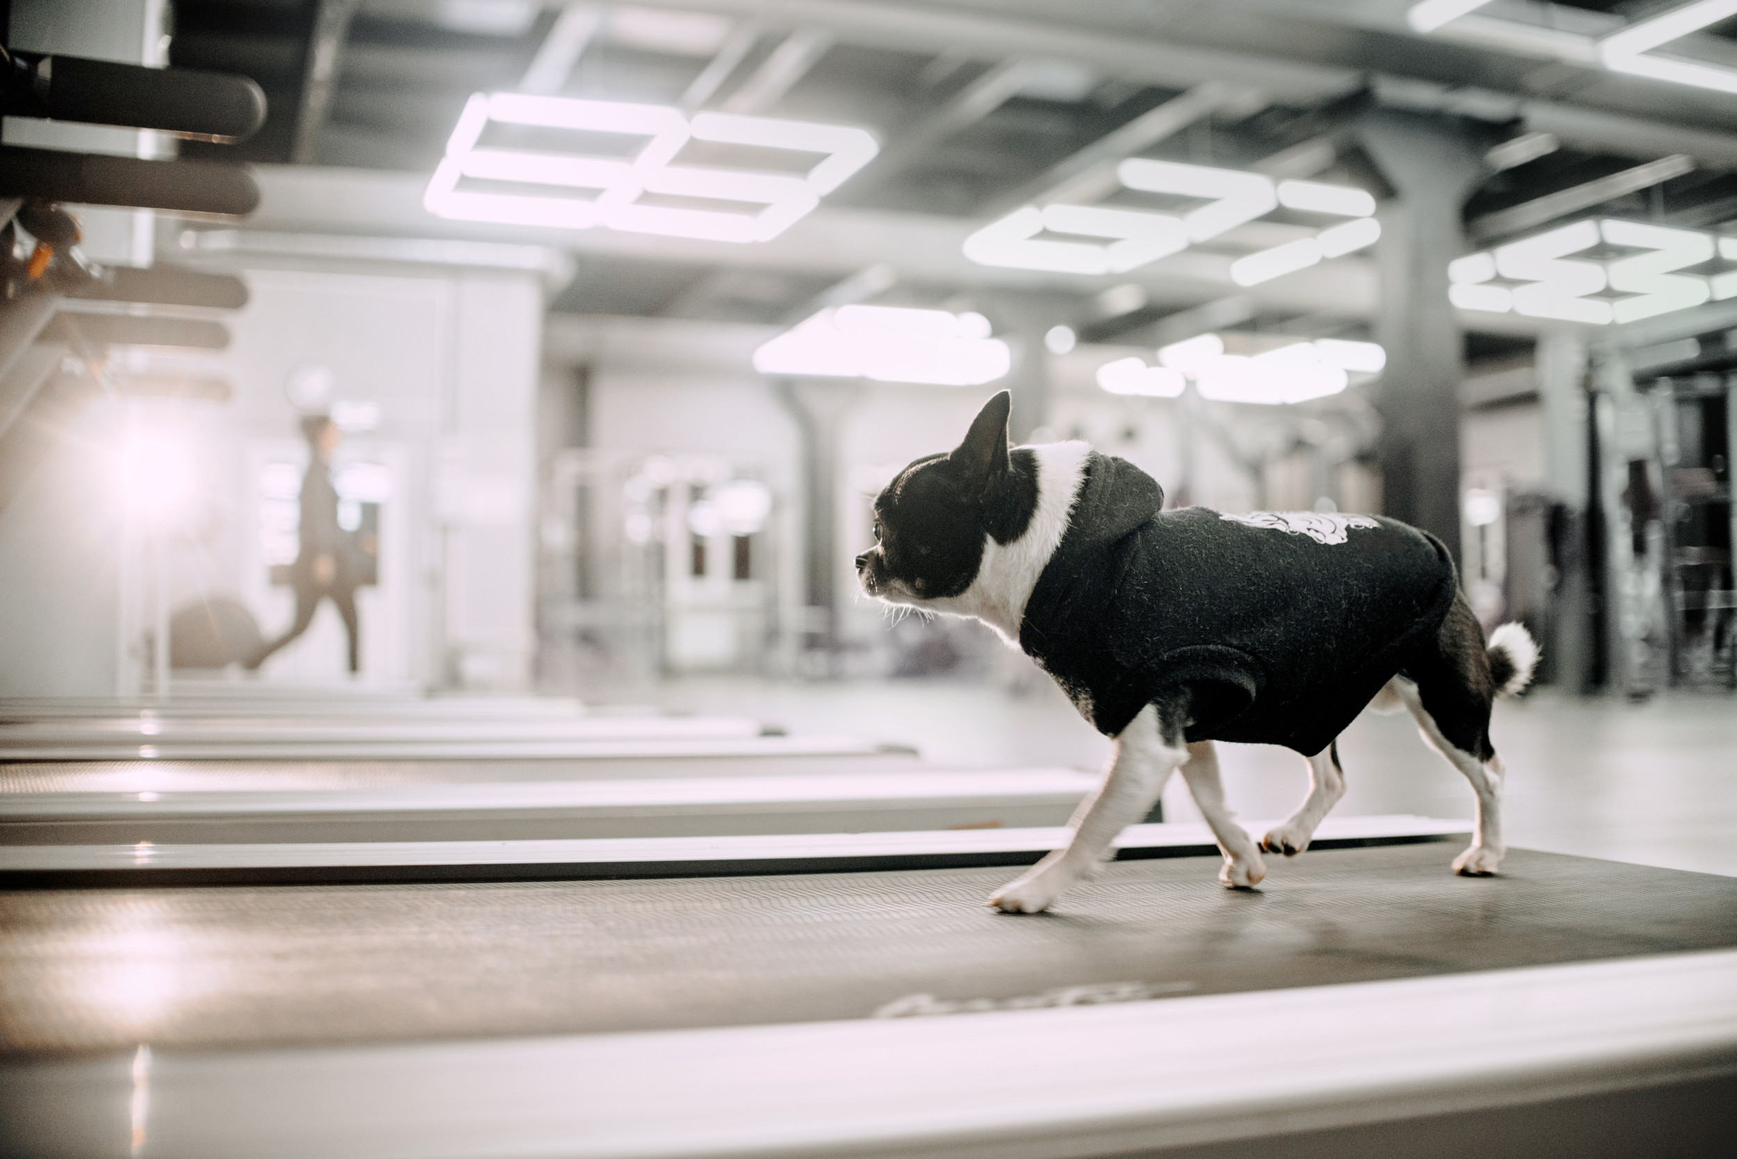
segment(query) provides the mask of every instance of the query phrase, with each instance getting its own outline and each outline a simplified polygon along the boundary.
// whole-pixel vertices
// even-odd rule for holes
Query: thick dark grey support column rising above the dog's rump
[[[1383,508],[1438,536],[1459,560],[1459,383],[1464,338],[1447,300],[1447,264],[1466,252],[1461,206],[1485,175],[1485,142],[1468,121],[1370,109],[1358,118],[1369,158],[1398,191],[1381,210],[1381,312],[1388,350],[1376,401],[1383,418]]]

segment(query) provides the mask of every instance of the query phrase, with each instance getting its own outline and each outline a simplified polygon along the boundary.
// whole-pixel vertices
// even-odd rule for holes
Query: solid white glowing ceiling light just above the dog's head
[[[754,352],[763,375],[976,387],[1013,368],[981,314],[888,305],[827,307]]]

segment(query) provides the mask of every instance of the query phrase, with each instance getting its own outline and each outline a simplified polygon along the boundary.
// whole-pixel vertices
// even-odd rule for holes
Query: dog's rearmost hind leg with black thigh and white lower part
[[[1447,758],[1478,798],[1471,847],[1454,859],[1454,873],[1489,876],[1503,854],[1503,758],[1490,744],[1490,701],[1496,687],[1483,645],[1483,630],[1466,597],[1454,600],[1435,647],[1405,665],[1397,680],[1400,697],[1424,743]]]

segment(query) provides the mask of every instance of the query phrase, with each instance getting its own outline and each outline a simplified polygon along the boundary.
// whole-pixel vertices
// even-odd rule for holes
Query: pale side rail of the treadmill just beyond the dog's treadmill
[[[926,769],[375,789],[0,793],[0,845],[509,841],[841,829],[1023,829],[1065,824],[1100,779],[1072,769]]]

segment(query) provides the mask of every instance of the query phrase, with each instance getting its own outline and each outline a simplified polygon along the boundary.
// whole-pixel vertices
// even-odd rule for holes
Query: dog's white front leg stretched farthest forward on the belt
[[[1098,791],[1080,802],[1068,821],[1073,836],[1060,848],[1009,881],[988,899],[1007,913],[1035,914],[1047,909],[1063,890],[1091,876],[1110,855],[1110,843],[1148,812],[1188,750],[1183,748],[1179,713],[1160,713],[1148,704],[1115,737],[1110,772]]]

